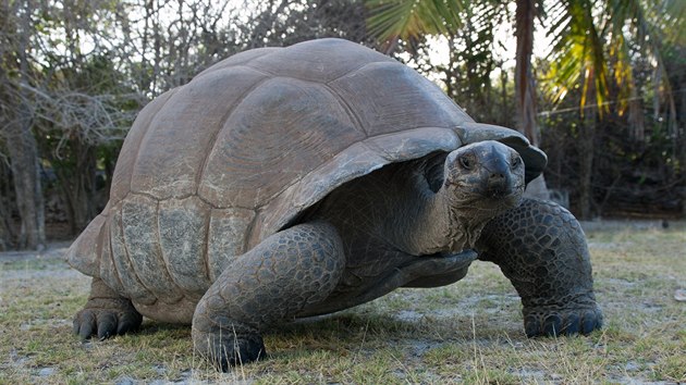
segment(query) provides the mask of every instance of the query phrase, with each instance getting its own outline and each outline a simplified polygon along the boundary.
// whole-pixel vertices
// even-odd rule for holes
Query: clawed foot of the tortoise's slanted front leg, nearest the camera
[[[228,372],[230,367],[257,361],[267,355],[265,343],[259,333],[248,332],[246,327],[199,331],[193,328],[195,350],[211,362],[217,370]],[[238,332],[237,330],[242,330]]]

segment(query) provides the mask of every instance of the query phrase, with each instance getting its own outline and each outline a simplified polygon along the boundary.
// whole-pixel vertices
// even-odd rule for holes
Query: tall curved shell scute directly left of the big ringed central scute
[[[212,72],[181,87],[161,108],[140,142],[132,190],[157,199],[196,194],[198,174],[223,120],[265,77],[240,66]]]

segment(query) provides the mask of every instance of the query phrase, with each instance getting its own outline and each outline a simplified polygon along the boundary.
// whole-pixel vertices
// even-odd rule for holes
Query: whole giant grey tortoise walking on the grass
[[[357,44],[235,54],[138,114],[107,207],[68,252],[93,276],[74,331],[192,324],[226,370],[265,356],[270,325],[449,285],[479,259],[513,283],[527,335],[590,333],[584,233],[523,198],[544,165],[517,132]]]

